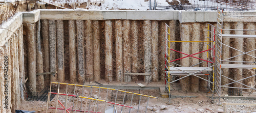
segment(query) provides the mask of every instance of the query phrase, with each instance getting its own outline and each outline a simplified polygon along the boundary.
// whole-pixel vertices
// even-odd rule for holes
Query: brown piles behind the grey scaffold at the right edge
[[[238,29],[238,30],[255,30],[255,22],[224,22],[223,29]],[[238,34],[238,35],[255,35],[255,31],[223,31],[223,34]],[[253,49],[256,49],[255,45],[255,39],[253,38],[223,38],[223,43],[226,45],[229,45],[231,47],[234,47],[240,51],[248,52]],[[230,49],[227,46],[222,46],[222,59],[228,59],[231,56],[236,56],[241,54],[242,52],[239,52],[238,50]],[[255,56],[255,51],[249,52],[248,54]],[[254,62],[255,58],[249,56],[249,55],[240,55],[236,58],[231,59],[231,61],[245,61],[245,62]],[[230,62],[223,62],[225,64],[229,64]],[[231,64],[231,63],[230,63]],[[247,64],[247,65],[255,65],[254,63],[239,63],[235,62],[233,64]],[[228,69],[228,68],[222,68],[222,72],[224,76],[227,76],[229,78],[232,78],[234,80],[240,80],[242,78],[249,77],[251,75],[255,74],[254,69]],[[229,82],[233,82],[232,80],[229,80],[227,78],[222,77],[222,84],[227,84]],[[255,77],[247,78],[243,81],[240,81],[247,86],[254,87],[255,86]],[[233,83],[230,84],[229,87],[242,87],[242,84],[240,83]],[[228,89],[226,88],[225,91]],[[247,92],[250,92],[251,90],[247,89],[245,90]]]

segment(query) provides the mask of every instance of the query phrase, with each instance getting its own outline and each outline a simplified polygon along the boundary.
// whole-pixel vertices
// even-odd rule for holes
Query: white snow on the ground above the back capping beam
[[[0,0],[0,2],[15,2],[15,1],[26,1],[26,0]],[[150,9],[150,0],[40,0],[40,4],[50,3],[56,6],[64,6],[65,4],[69,4],[73,8],[76,6],[80,6],[82,3],[92,4],[87,6],[85,9],[89,10],[149,10]],[[154,1],[152,0],[151,5],[152,9],[154,8]],[[168,0],[168,2],[172,2],[174,0]],[[179,0],[176,0],[180,3]],[[156,0],[157,10],[165,10],[166,7],[169,6],[166,0]],[[223,8],[231,8],[230,6],[218,4],[216,2],[211,1],[200,1],[200,0],[187,0],[185,2],[189,2],[193,7],[197,7],[196,10],[210,10],[210,7],[223,7]],[[97,3],[97,4],[96,4]],[[89,5],[87,4],[87,5]],[[98,5],[101,4],[99,7]],[[208,6],[208,8],[207,8]],[[74,8],[75,9],[75,8]],[[173,10],[172,8],[167,8],[168,10]]]

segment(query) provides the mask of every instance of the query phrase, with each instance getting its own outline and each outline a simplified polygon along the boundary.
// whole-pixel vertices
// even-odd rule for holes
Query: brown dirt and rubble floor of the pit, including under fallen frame
[[[104,81],[99,81],[102,83],[104,86],[107,85],[115,85],[115,86],[126,86],[126,83],[124,82],[111,82],[108,84],[108,82]],[[130,82],[127,86],[137,86],[137,83],[143,83],[146,85],[145,82],[143,81],[138,81],[138,82]],[[85,83],[88,84],[88,83]],[[94,83],[91,83],[89,85],[94,85]],[[164,85],[164,82],[151,82],[150,87],[162,87]],[[177,88],[179,89],[179,88]],[[148,107],[146,109],[147,105],[147,97],[141,98],[140,104],[138,104],[138,100],[133,100],[132,103],[132,108],[131,112],[137,112],[138,105],[139,107],[139,112],[223,112],[223,105],[219,105],[219,99],[215,99],[214,103],[211,103],[211,99],[208,98],[207,96],[211,97],[211,94],[206,94],[204,92],[199,92],[199,93],[185,93],[180,90],[173,91],[173,96],[198,96],[194,98],[174,98],[171,99],[170,103],[168,102],[168,98],[161,98],[160,92],[158,89],[154,90],[140,90],[141,94],[145,95],[150,95],[150,96],[155,96],[158,97],[158,99],[150,98],[148,101]],[[74,86],[68,86],[67,93],[73,95],[75,90],[75,95],[78,96],[84,96],[84,97],[90,97],[90,92],[92,98],[97,98],[101,100],[108,100],[110,102],[115,102],[114,98],[111,98],[111,96],[116,95],[116,91],[107,91],[105,89],[100,90],[100,95],[98,96],[99,89],[98,88],[92,88],[91,87],[84,87],[84,90],[82,92],[82,87],[76,87],[74,89]],[[106,97],[106,93],[108,92],[108,97]],[[66,85],[60,85],[60,90],[59,93],[66,93]],[[123,93],[118,92],[118,96],[122,96]],[[223,94],[224,95],[224,94]],[[244,96],[248,96],[248,93],[243,92]],[[256,93],[250,94],[250,97],[255,97]],[[131,96],[131,95],[130,95]],[[216,96],[216,95],[215,95]],[[54,99],[50,102],[50,107],[56,107],[56,100],[57,100],[57,95],[54,97]],[[127,97],[129,98],[129,97]],[[131,97],[130,97],[131,98]],[[134,98],[135,99],[135,98]],[[137,98],[138,99],[138,98]],[[63,95],[59,95],[58,100],[64,105],[66,97]],[[74,100],[74,103],[73,103]],[[86,102],[87,100],[87,102]],[[221,99],[221,103],[223,102],[230,102],[230,103],[256,103],[256,100],[241,100],[241,99]],[[81,104],[82,103],[82,104]],[[90,111],[97,111],[97,104],[98,104],[98,112],[104,112],[105,105],[106,107],[111,106],[112,104],[108,103],[105,104],[105,102],[98,102],[95,100],[92,100],[90,102],[89,99],[81,99],[79,98],[77,101],[77,98],[73,98],[69,96],[67,98],[67,106],[77,106],[76,109],[80,109],[80,106],[82,105],[82,109],[85,108],[87,103],[87,110],[89,110],[89,104],[90,104]],[[122,104],[122,98],[117,99],[116,103]],[[42,101],[25,101],[22,102],[21,106],[19,109],[22,110],[35,110],[36,112],[46,112],[46,106],[47,102],[42,102]],[[59,103],[58,108],[63,108]],[[124,102],[125,105],[130,106],[131,105],[131,100],[127,99]],[[72,109],[72,108],[71,108]],[[120,112],[122,107],[118,106],[116,107],[117,112]],[[255,106],[246,106],[246,105],[228,105],[226,107],[226,110],[228,112],[256,112]],[[64,110],[57,110],[57,112],[63,112]],[[55,109],[49,109],[48,112],[55,112]],[[72,112],[72,111],[70,111]],[[75,112],[75,111],[73,111]],[[123,112],[129,112],[129,108],[123,107]]]

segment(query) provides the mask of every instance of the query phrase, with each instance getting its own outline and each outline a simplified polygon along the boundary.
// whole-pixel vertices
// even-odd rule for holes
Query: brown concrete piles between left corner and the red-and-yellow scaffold
[[[41,90],[48,81],[138,80],[138,76],[123,73],[151,73],[150,81],[163,79],[164,25],[174,24],[174,21],[40,20],[24,23],[25,72],[30,90]],[[55,71],[56,74],[35,76]],[[144,77],[144,81],[147,79]]]

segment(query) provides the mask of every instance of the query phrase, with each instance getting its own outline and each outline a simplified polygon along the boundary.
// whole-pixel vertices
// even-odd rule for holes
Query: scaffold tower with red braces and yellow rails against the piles
[[[207,50],[203,50],[194,54],[186,54],[183,52],[180,52],[178,50],[175,50],[171,47],[172,44],[177,42],[184,42],[184,43],[190,43],[190,42],[202,42],[207,44]],[[178,59],[172,59],[172,55],[170,51],[175,51],[178,53],[185,54],[187,56],[184,56],[182,58]],[[193,55],[199,54],[199,53],[205,53],[207,52],[207,60],[197,58]],[[199,77],[205,81],[207,81],[207,88],[208,91],[212,92],[212,100],[214,96],[214,87],[215,87],[215,75],[214,72],[212,73],[212,70],[214,70],[214,54],[215,54],[215,26],[208,23],[207,24],[207,40],[199,41],[199,40],[187,40],[187,41],[176,41],[176,40],[170,40],[170,26],[165,24],[165,87],[168,91],[169,95],[169,101],[171,98],[171,89],[172,86],[171,83],[174,83],[180,79],[183,79],[188,76],[196,76]],[[189,67],[184,67],[180,64],[175,63],[175,61],[187,58],[187,57],[193,57],[195,59],[201,60],[199,63],[194,64]],[[196,65],[202,64],[204,62],[207,62],[207,67],[194,67]],[[177,67],[175,67],[175,66]],[[179,79],[173,80],[171,76],[180,76]],[[200,76],[207,76],[207,79],[204,79]]]

